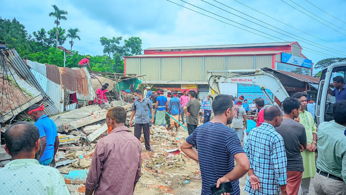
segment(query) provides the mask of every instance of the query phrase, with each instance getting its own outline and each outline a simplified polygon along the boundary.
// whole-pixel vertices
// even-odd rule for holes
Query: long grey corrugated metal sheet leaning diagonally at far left
[[[52,99],[44,92],[38,81],[35,79],[34,75],[31,73],[28,66],[24,63],[22,58],[19,56],[16,49],[9,49],[6,51],[2,51],[6,60],[11,63],[14,67],[16,73],[22,78],[25,79],[28,83],[33,85],[43,97],[43,104],[45,105],[44,112],[47,115],[54,115],[58,112],[58,109],[54,106],[54,102]]]

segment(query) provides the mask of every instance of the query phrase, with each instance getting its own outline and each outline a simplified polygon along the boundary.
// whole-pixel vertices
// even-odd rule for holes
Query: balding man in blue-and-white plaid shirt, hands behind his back
[[[263,124],[253,128],[247,136],[244,150],[250,170],[244,190],[251,195],[287,195],[285,146],[282,136],[275,130],[281,126],[282,117],[279,107],[266,107]]]

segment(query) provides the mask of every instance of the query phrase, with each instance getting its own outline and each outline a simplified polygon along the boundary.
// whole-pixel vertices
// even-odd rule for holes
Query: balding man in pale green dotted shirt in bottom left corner
[[[40,134],[29,122],[17,122],[4,133],[12,161],[0,169],[1,194],[70,194],[60,172],[40,165]]]

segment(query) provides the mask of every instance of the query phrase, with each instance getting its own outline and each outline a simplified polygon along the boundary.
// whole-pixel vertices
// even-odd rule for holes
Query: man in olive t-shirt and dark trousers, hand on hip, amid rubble
[[[199,103],[198,100],[196,100],[196,92],[193,90],[189,91],[189,97],[190,101],[186,103],[184,106],[184,111],[186,113],[187,118],[187,124],[188,124],[188,133],[189,135],[192,134],[192,132],[197,128],[198,125],[198,113],[199,113],[199,108],[201,104]]]

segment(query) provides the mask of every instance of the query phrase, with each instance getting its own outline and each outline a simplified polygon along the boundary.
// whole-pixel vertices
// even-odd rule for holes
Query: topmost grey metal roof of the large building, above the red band
[[[290,45],[294,42],[295,41],[292,41],[292,42],[274,42],[274,43],[231,44],[231,45],[178,46],[178,47],[147,48],[145,50],[226,49],[226,48]]]

